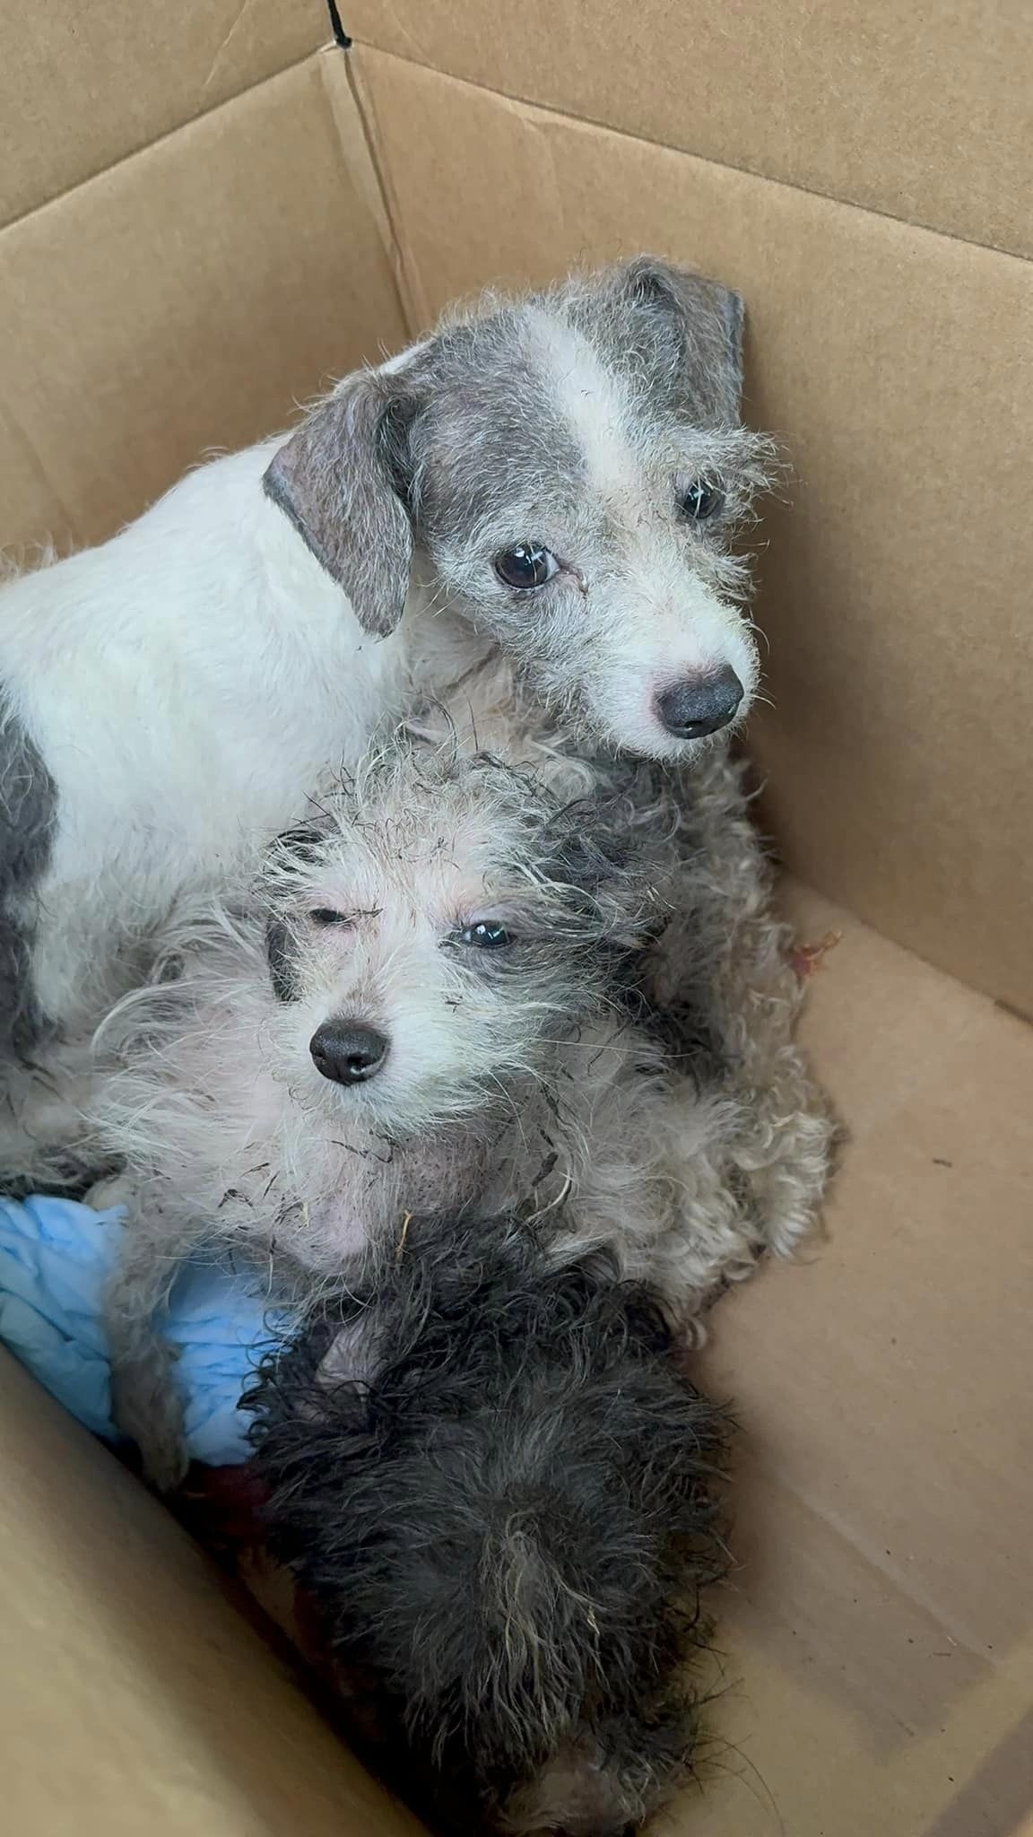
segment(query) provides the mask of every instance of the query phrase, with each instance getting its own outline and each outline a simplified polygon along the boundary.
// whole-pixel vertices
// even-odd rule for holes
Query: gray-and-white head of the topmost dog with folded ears
[[[768,456],[739,424],[741,327],[728,288],[647,257],[489,301],[347,378],[267,490],[369,632],[419,560],[594,737],[682,757],[759,674],[728,547]]]

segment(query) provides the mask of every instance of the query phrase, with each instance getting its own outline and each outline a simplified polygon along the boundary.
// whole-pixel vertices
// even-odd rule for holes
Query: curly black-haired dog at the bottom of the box
[[[689,1775],[724,1420],[647,1288],[414,1222],[243,1407],[268,1549],[425,1815],[618,1837]]]

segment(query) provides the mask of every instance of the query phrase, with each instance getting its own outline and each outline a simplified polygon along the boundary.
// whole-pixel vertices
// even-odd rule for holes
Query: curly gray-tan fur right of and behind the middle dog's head
[[[726,1279],[748,1273],[759,1251],[789,1255],[814,1223],[833,1128],[794,1040],[803,985],[750,812],[750,768],[724,735],[675,770],[627,755],[585,757],[568,731],[542,726],[505,663],[467,680],[448,718],[467,744],[489,738],[507,759],[533,764],[557,794],[603,805],[610,849],[623,847],[632,860],[645,851],[649,860],[653,935],[625,959],[625,1012],[638,1025],[638,1051],[653,1043],[680,1108],[669,1165],[680,1185],[682,1258],[667,1275],[660,1264],[632,1273],[673,1295],[678,1286],[706,1286],[693,1244],[713,1251],[711,1280],[717,1269]],[[441,718],[421,731],[441,742]],[[627,1080],[621,1102],[625,1113],[634,1110]],[[647,1113],[643,1130],[656,1141],[656,1095]],[[618,1133],[629,1139],[629,1130]],[[640,1178],[641,1163],[634,1155],[632,1163]]]

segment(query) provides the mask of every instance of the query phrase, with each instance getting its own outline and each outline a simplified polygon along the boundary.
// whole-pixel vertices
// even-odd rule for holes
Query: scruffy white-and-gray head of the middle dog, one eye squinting
[[[404,742],[274,845],[263,893],[281,1075],[392,1137],[540,1073],[616,997],[654,918],[607,806]]]

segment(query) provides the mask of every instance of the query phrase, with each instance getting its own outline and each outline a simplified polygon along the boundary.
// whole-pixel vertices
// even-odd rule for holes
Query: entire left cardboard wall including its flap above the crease
[[[97,542],[404,342],[322,0],[0,4],[0,547]]]

